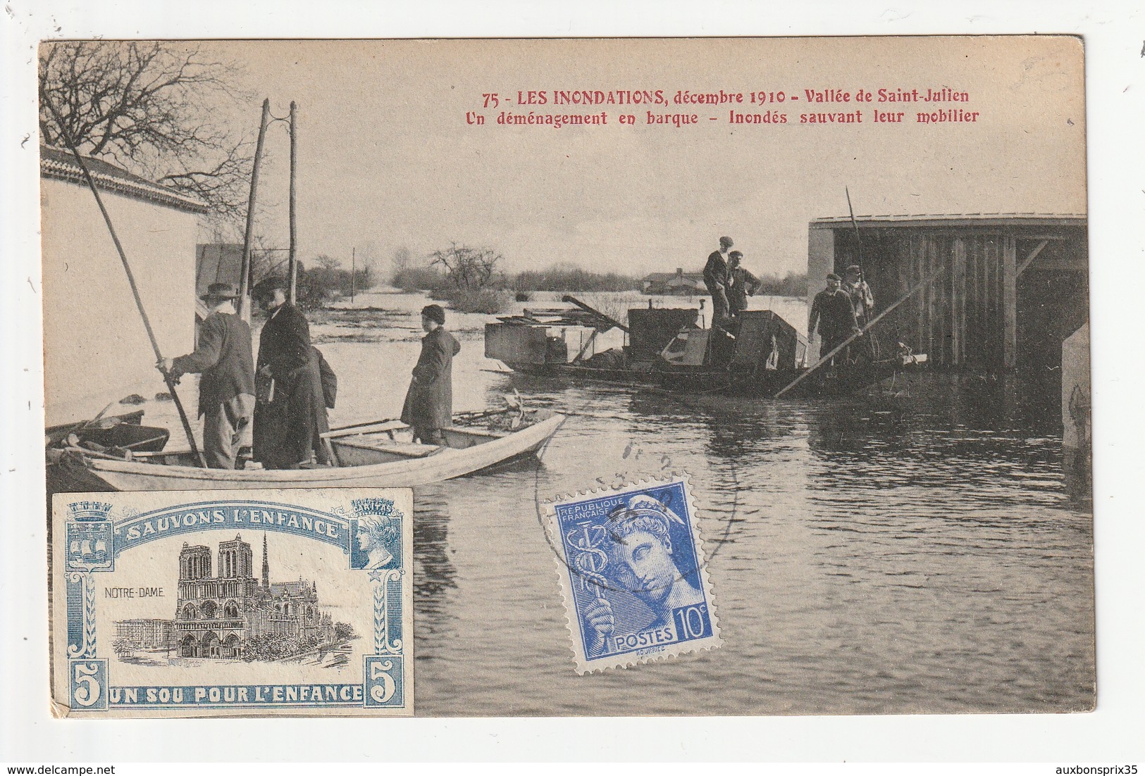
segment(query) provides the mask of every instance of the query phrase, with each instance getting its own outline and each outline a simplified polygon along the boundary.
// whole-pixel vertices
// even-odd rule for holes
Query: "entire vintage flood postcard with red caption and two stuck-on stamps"
[[[45,41],[60,707],[409,713],[416,640],[425,715],[1091,710],[1084,69],[1042,34]],[[417,507],[396,655],[371,488]],[[206,559],[250,613],[181,619]],[[303,587],[321,656],[258,658]]]

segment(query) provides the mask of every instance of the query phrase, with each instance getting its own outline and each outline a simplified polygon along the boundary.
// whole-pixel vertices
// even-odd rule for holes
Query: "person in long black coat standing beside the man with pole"
[[[290,469],[330,457],[319,437],[330,430],[318,359],[306,317],[286,301],[286,283],[268,278],[252,294],[267,314],[259,336],[254,457],[268,469]]]

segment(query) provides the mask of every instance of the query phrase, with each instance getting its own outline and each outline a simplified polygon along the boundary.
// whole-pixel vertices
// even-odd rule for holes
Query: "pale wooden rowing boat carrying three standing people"
[[[141,453],[128,460],[69,450],[55,466],[72,489],[244,490],[252,488],[389,488],[424,485],[539,456],[564,422],[544,410],[527,413],[518,428],[498,430],[488,421],[503,413],[458,415],[443,429],[445,445],[417,444],[408,426],[382,420],[324,435],[337,466],[302,469],[204,469],[189,451]],[[529,417],[531,415],[531,417]],[[516,415],[520,417],[520,415]]]

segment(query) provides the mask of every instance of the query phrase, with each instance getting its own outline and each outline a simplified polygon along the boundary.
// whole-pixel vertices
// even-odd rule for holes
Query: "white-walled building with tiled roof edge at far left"
[[[86,163],[131,261],[165,356],[195,347],[198,199],[101,159]],[[74,157],[40,147],[47,425],[164,390],[116,246]],[[190,391],[188,391],[190,393]],[[184,396],[195,406],[194,396]]]

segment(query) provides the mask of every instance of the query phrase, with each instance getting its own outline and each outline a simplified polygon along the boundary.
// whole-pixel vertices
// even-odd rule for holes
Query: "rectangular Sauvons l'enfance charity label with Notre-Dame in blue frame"
[[[58,716],[413,713],[408,489],[57,493]]]

